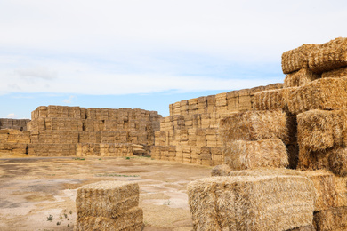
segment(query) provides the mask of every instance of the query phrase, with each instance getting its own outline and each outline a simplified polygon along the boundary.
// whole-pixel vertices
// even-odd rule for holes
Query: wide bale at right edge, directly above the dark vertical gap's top
[[[319,78],[288,92],[288,109],[299,114],[312,109],[331,110],[347,107],[347,77]]]

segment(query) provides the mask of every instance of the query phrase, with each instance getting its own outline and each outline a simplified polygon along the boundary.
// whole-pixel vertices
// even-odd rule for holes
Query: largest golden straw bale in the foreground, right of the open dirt
[[[313,219],[314,187],[300,174],[198,179],[188,195],[194,230],[287,230]]]

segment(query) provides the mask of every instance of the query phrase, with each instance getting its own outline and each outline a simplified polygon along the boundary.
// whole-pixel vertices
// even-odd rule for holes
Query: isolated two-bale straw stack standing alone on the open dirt
[[[77,190],[74,230],[142,230],[139,185],[126,181],[100,181]]]

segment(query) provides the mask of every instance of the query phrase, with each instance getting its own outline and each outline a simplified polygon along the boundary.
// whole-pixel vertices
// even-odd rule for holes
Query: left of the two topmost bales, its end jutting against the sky
[[[315,44],[303,44],[293,50],[282,54],[282,70],[284,74],[289,74],[302,68],[309,68],[309,55]]]

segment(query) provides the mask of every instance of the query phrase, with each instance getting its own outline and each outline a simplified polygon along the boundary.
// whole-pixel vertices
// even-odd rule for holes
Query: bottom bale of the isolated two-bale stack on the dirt
[[[141,231],[142,228],[143,211],[141,208],[135,207],[123,212],[116,219],[108,217],[78,217],[74,230]]]

